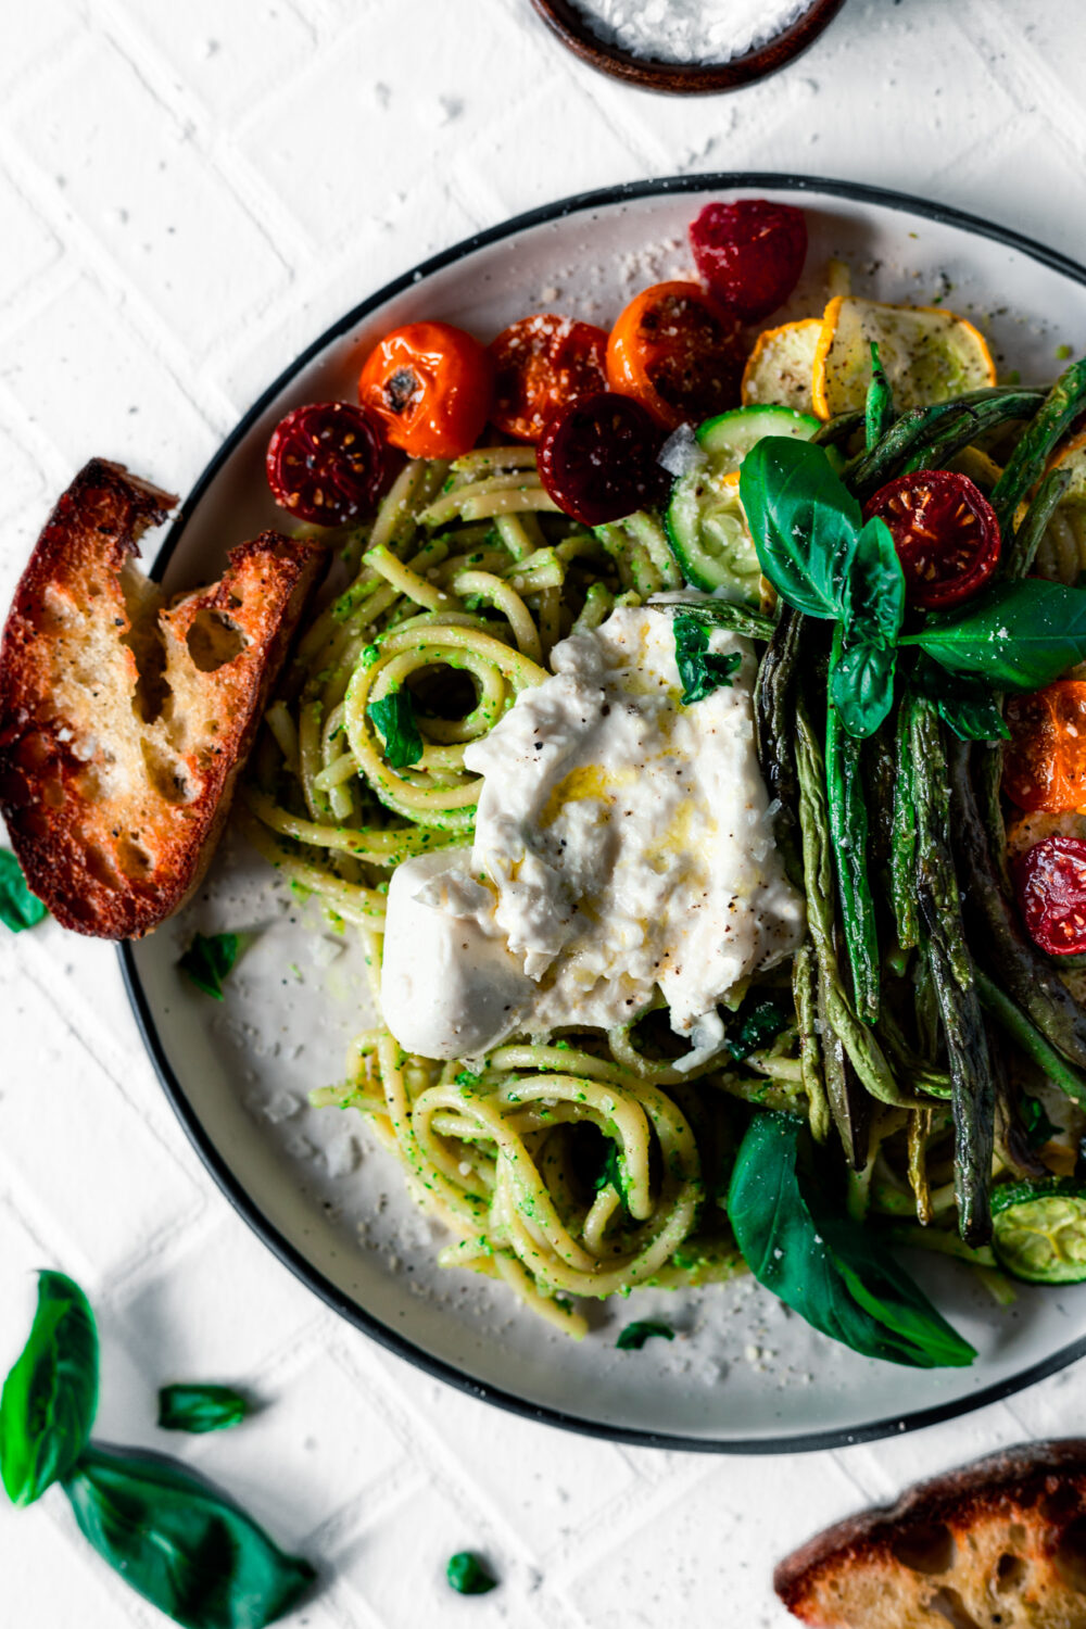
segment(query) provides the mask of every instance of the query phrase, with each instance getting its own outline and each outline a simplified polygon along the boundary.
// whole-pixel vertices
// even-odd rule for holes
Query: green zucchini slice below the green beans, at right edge
[[[1086,1186],[1062,1176],[996,1186],[992,1248],[1014,1279],[1079,1284],[1086,1279]]]

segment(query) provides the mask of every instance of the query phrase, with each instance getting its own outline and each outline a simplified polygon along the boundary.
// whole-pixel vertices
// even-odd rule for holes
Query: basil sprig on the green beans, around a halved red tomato
[[[954,676],[939,712],[966,740],[1005,735],[988,692],[1036,691],[1086,660],[1086,591],[1037,578],[996,583],[904,634],[905,580],[891,531],[878,516],[861,525],[860,505],[811,441],[765,437],[752,446],[739,497],[782,599],[840,627],[830,700],[850,735],[871,735],[889,714],[900,647],[918,647]]]

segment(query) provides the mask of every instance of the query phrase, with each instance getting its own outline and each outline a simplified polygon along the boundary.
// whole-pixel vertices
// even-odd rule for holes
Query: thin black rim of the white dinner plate
[[[612,187],[601,187],[594,192],[576,192],[555,204],[545,204],[541,209],[516,215],[500,226],[490,226],[485,231],[475,233],[472,238],[466,238],[451,249],[443,249],[440,254],[431,256],[431,259],[423,261],[418,267],[414,267],[412,270],[404,272],[402,277],[386,283],[326,329],[319,339],[314,339],[314,342],[308,345],[306,350],[303,350],[301,355],[298,355],[272,384],[269,384],[264,394],[252,404],[247,414],[244,414],[207,464],[202,476],[181,505],[181,510],[177,512],[177,516],[169,528],[161,549],[158,551],[153,575],[161,577],[205,490],[231,456],[238,443],[247,435],[251,425],[267,411],[280,391],[285,389],[285,386],[290,384],[291,380],[332,340],[340,339],[371,311],[386,305],[402,290],[414,287],[433,272],[451,266],[454,261],[459,261],[467,254],[474,254],[477,249],[500,243],[503,238],[511,238],[519,231],[531,230],[532,226],[562,220],[567,215],[581,215],[593,209],[611,209],[615,204],[632,204],[640,199],[658,197],[661,194],[731,192],[751,187],[772,189],[777,192],[819,192],[829,197],[848,199],[850,202],[874,204],[902,213],[920,215],[925,220],[936,222],[938,225],[957,226],[974,236],[990,238],[993,243],[1000,243],[1032,261],[1039,261],[1042,266],[1060,272],[1071,282],[1083,283],[1086,287],[1086,267],[1032,238],[1023,236],[1023,233],[1013,231],[1006,226],[996,226],[988,220],[969,215],[964,210],[951,209],[949,205],[931,204],[925,199],[912,197],[907,192],[894,192],[886,187],[865,186],[863,182],[855,181],[825,181],[819,176],[783,176],[755,171],[734,174],[663,176],[655,181],[632,181]],[[189,1103],[184,1087],[173,1070],[158,1034],[155,1015],[140,981],[132,945],[120,945],[119,956],[129,1002],[132,1003],[132,1012],[143,1038],[143,1044],[147,1046],[155,1070],[158,1072],[163,1090],[166,1091],[166,1096],[169,1098],[169,1103],[173,1104],[173,1109],[200,1160],[208,1168],[230,1204],[241,1217],[244,1217],[254,1233],[257,1233],[267,1248],[278,1256],[283,1266],[290,1267],[290,1271],[301,1279],[301,1282],[308,1285],[308,1289],[311,1289],[326,1303],[326,1306],[331,1306],[332,1311],[337,1311],[357,1329],[361,1329],[363,1334],[371,1336],[389,1352],[407,1359],[409,1363],[425,1370],[436,1380],[443,1380],[448,1385],[466,1391],[472,1398],[508,1409],[511,1414],[519,1414],[524,1419],[539,1420],[544,1425],[557,1425],[563,1430],[578,1432],[586,1437],[599,1437],[607,1442],[624,1442],[635,1447],[677,1448],[692,1453],[806,1453],[821,1448],[842,1448],[858,1442],[876,1442],[881,1437],[899,1437],[905,1430],[918,1430],[925,1425],[936,1425],[941,1420],[954,1419],[959,1414],[970,1414],[974,1409],[1009,1398],[1016,1391],[1023,1391],[1026,1386],[1031,1386],[1039,1380],[1045,1380],[1049,1375],[1058,1373],[1058,1370],[1066,1368],[1068,1363],[1076,1362],[1079,1357],[1086,1357],[1086,1336],[1083,1336],[1081,1339],[1073,1341],[1070,1346],[1065,1346],[1058,1352],[1052,1354],[1052,1357],[1044,1359],[1040,1363],[1032,1363],[1029,1368],[1011,1377],[1009,1380],[985,1386],[952,1403],[918,1409],[912,1414],[891,1416],[889,1419],[866,1420],[852,1429],[814,1430],[782,1437],[760,1437],[757,1440],[682,1437],[671,1435],[668,1432],[607,1425],[599,1420],[581,1419],[576,1414],[567,1414],[562,1409],[528,1403],[510,1391],[503,1391],[500,1386],[472,1380],[459,1368],[454,1368],[440,1357],[433,1357],[412,1341],[407,1341],[402,1334],[397,1334],[396,1329],[381,1323],[373,1316],[373,1313],[368,1313],[355,1300],[339,1290],[329,1279],[326,1279],[324,1274],[319,1272],[309,1261],[306,1261],[290,1240],[287,1240],[278,1228],[267,1220],[254,1199],[246,1192],[241,1181],[234,1176],[226,1160],[220,1155],[195,1109]]]

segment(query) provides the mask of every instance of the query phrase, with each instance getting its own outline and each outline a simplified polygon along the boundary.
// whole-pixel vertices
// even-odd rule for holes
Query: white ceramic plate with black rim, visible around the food
[[[918,199],[785,176],[698,176],[596,192],[462,243],[383,288],[322,336],[252,407],[197,482],[160,552],[166,585],[217,575],[226,546],[278,525],[264,482],[269,433],[287,409],[353,396],[381,332],[444,318],[495,334],[534,310],[607,324],[638,288],[689,266],[685,228],[703,202],[801,204],[811,282],[795,314],[822,303],[839,256],[855,290],[946,298],[993,339],[1003,371],[1050,380],[1057,347],[1086,350],[1086,270],[983,222]],[[777,318],[780,321],[780,318]],[[176,971],[194,929],[262,927],[221,1007]],[[552,1424],[642,1443],[786,1451],[879,1437],[977,1407],[1086,1352],[1086,1285],[1027,1290],[998,1310],[967,1269],[913,1258],[952,1323],[977,1346],[969,1370],[874,1363],[814,1334],[752,1280],[700,1292],[642,1290],[604,1306],[583,1342],[552,1334],[488,1280],[435,1266],[438,1230],[355,1114],[306,1106],[342,1075],[365,1026],[355,955],[228,842],[200,898],[151,938],[124,946],[135,1012],[163,1085],[234,1205],[317,1295],[443,1380]],[[633,1316],[666,1316],[671,1344],[615,1350]]]

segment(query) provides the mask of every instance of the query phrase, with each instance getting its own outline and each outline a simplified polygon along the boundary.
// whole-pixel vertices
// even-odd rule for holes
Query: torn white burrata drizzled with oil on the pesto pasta
[[[474,847],[407,860],[389,886],[381,1003],[404,1047],[471,1057],[510,1034],[609,1030],[659,989],[694,1067],[723,1041],[718,1003],[796,950],[754,655],[723,629],[710,650],[741,666],[684,705],[671,616],[617,609],[555,645],[555,676],[471,744]]]

